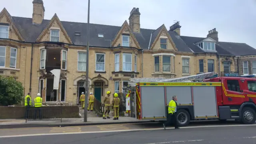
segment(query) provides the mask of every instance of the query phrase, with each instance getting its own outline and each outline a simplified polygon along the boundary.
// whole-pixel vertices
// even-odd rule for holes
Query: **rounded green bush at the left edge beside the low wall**
[[[13,77],[0,76],[0,105],[8,106],[18,104],[23,98],[23,86]]]

